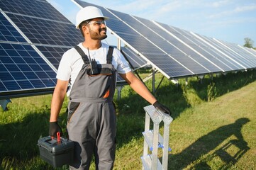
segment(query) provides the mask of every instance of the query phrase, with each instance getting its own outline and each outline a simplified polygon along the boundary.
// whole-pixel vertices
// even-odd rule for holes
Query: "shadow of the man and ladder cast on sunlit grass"
[[[213,154],[209,154],[206,158],[196,162],[193,167],[190,167],[190,169],[211,169],[207,162],[218,157],[224,162],[224,165],[219,169],[228,169],[230,164],[232,165],[238,162],[238,159],[243,157],[243,154],[250,149],[241,133],[243,125],[249,121],[250,120],[248,118],[240,118],[236,120],[235,123],[224,125],[212,132],[209,132],[207,135],[200,137],[196,142],[179,154],[170,154],[168,163],[169,169],[185,169],[189,164],[196,162],[200,157],[204,157],[208,152],[211,152],[213,149],[220,146],[222,142],[228,139],[228,137],[234,135],[237,137],[237,140],[230,140],[229,142],[226,142],[220,149],[213,152]],[[232,156],[228,154],[227,151],[233,146],[237,147],[239,150]]]

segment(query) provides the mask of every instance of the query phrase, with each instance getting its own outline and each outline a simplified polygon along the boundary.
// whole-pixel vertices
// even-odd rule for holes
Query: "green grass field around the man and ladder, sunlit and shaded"
[[[156,85],[161,78],[157,74]],[[168,169],[255,169],[255,80],[256,72],[247,71],[205,77],[202,83],[192,77],[187,86],[184,79],[179,86],[162,81],[155,96],[174,118]],[[147,86],[151,89],[152,82]],[[0,111],[0,169],[52,169],[40,159],[36,145],[39,137],[48,135],[50,101],[51,95],[13,98],[9,111]],[[143,107],[148,103],[129,86],[115,102],[118,145],[114,169],[141,169]],[[67,99],[59,120],[65,134],[66,107]]]

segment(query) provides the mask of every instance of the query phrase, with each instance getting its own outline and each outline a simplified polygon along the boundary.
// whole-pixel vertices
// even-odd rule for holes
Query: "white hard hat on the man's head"
[[[99,8],[96,8],[95,6],[87,6],[87,7],[80,9],[80,11],[77,13],[76,28],[79,29],[79,25],[83,21],[87,21],[87,20],[90,20],[93,18],[108,19],[108,17],[103,16],[103,14]]]

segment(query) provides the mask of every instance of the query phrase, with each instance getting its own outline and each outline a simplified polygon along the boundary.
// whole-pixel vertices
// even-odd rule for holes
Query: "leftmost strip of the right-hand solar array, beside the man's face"
[[[83,7],[93,5],[84,1],[76,2]],[[101,6],[98,7],[101,8],[101,11],[105,16],[110,18],[108,21],[106,21],[108,28],[115,32],[126,43],[132,45],[133,48],[138,50],[138,52],[145,57],[145,60],[148,60],[148,62],[154,65],[154,67],[157,67],[157,69],[159,69],[163,74],[167,75],[168,78],[184,77],[193,74],[191,71],[189,71],[189,69],[169,57],[165,52],[153,45],[138,32],[127,26],[125,23],[123,23],[123,21],[116,18],[116,16],[113,16],[113,14],[109,13],[105,8],[102,8]],[[115,11],[115,13],[118,12]]]

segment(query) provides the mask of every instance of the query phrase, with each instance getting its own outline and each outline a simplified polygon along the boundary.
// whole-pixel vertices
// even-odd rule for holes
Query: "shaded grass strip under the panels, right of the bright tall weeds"
[[[208,101],[208,98],[213,99],[238,90],[255,80],[256,70],[248,70],[247,72],[221,74],[213,79],[202,79],[201,82],[200,80],[189,81],[189,86],[196,91],[201,100]]]

